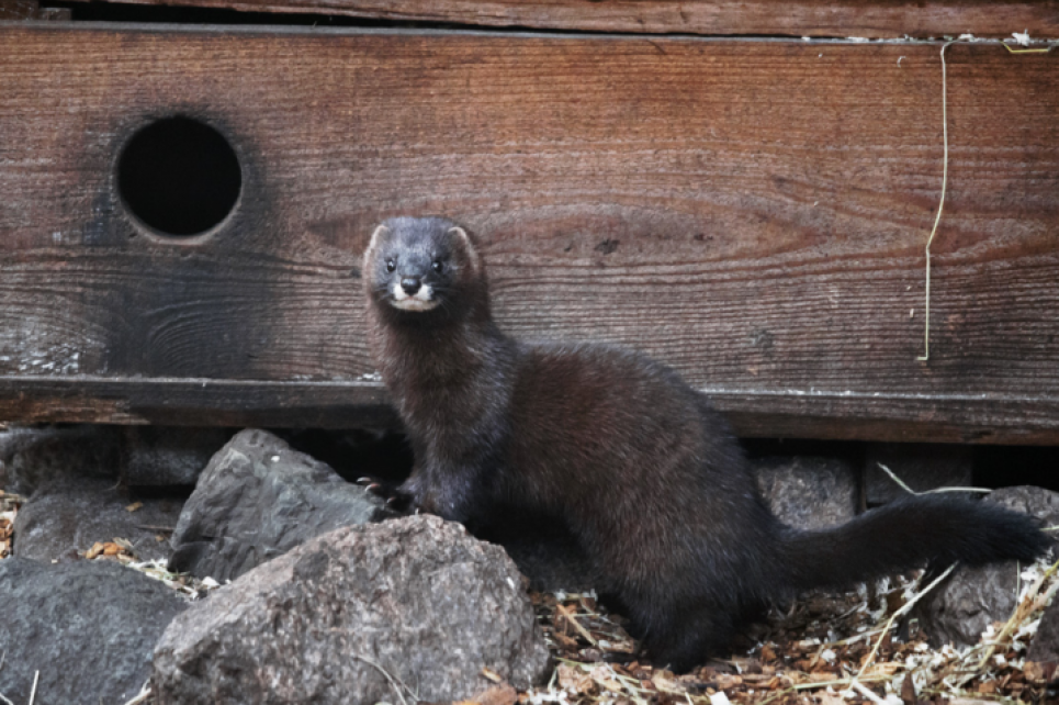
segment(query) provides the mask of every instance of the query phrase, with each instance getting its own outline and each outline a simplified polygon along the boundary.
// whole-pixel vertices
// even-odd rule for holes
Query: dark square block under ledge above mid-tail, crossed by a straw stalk
[[[908,496],[908,491],[879,467],[885,465],[913,492],[937,488],[969,488],[972,449],[942,444],[868,444],[865,451],[864,485],[869,506]]]

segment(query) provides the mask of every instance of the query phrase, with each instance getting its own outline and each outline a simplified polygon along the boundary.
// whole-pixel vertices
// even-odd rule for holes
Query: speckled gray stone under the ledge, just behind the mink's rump
[[[754,468],[762,495],[785,524],[823,528],[857,514],[857,475],[846,460],[774,457],[755,460]]]

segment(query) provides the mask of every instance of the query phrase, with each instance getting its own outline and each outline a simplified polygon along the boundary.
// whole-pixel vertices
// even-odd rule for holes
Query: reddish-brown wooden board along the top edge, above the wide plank
[[[170,0],[122,0],[171,4]],[[829,37],[971,33],[1059,37],[1055,0],[181,0],[250,12],[316,12],[376,20],[583,32]]]

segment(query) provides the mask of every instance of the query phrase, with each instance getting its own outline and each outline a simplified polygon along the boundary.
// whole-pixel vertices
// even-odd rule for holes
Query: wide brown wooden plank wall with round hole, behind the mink
[[[3,26],[0,418],[362,419],[364,238],[443,213],[505,329],[645,349],[743,434],[1055,443],[1059,56],[948,49],[922,362],[938,48]],[[173,114],[243,164],[205,238],[115,191]]]

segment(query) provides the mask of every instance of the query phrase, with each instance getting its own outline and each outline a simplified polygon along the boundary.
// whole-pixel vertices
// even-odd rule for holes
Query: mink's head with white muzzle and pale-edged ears
[[[372,303],[404,314],[398,317],[451,317],[484,301],[474,244],[443,217],[384,221],[371,236],[363,271]]]

